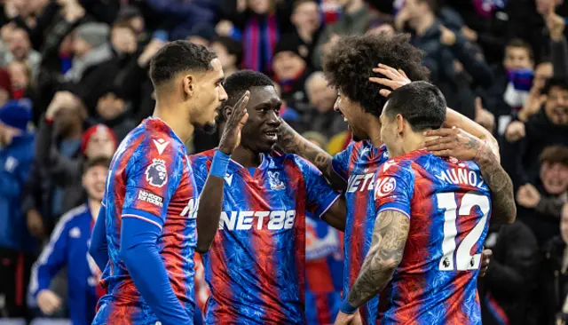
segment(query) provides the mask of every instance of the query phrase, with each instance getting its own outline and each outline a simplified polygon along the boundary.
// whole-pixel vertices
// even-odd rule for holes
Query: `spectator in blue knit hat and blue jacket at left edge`
[[[24,183],[34,159],[29,100],[12,100],[0,108],[0,296],[8,317],[23,317],[29,269],[36,249],[21,212]],[[2,308],[2,307],[0,307]]]

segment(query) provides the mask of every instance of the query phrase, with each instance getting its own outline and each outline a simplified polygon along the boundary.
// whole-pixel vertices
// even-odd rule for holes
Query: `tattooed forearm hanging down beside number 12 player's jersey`
[[[395,210],[383,211],[376,217],[371,250],[349,292],[353,307],[365,304],[389,283],[402,259],[409,227],[410,220]]]

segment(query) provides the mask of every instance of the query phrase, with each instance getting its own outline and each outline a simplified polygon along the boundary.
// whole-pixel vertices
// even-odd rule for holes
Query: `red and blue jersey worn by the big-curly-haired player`
[[[357,280],[363,261],[371,247],[375,226],[375,171],[388,159],[386,147],[373,147],[369,141],[353,142],[334,156],[335,173],[347,182],[345,203],[345,265],[343,267],[343,296]],[[359,308],[364,324],[374,324],[377,318],[378,298]]]

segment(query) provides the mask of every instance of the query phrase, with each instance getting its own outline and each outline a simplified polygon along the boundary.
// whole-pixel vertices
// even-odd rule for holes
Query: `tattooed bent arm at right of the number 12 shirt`
[[[498,224],[512,224],[517,218],[513,181],[490,148],[478,149],[476,162],[479,164],[485,183],[491,190],[492,221]]]

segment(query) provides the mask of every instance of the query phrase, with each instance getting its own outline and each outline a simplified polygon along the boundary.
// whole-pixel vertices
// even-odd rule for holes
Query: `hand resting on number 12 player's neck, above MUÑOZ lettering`
[[[438,137],[424,143],[424,148],[433,155],[454,157],[461,161],[477,161],[480,155],[485,155],[485,141],[459,128],[425,131],[424,135]]]

